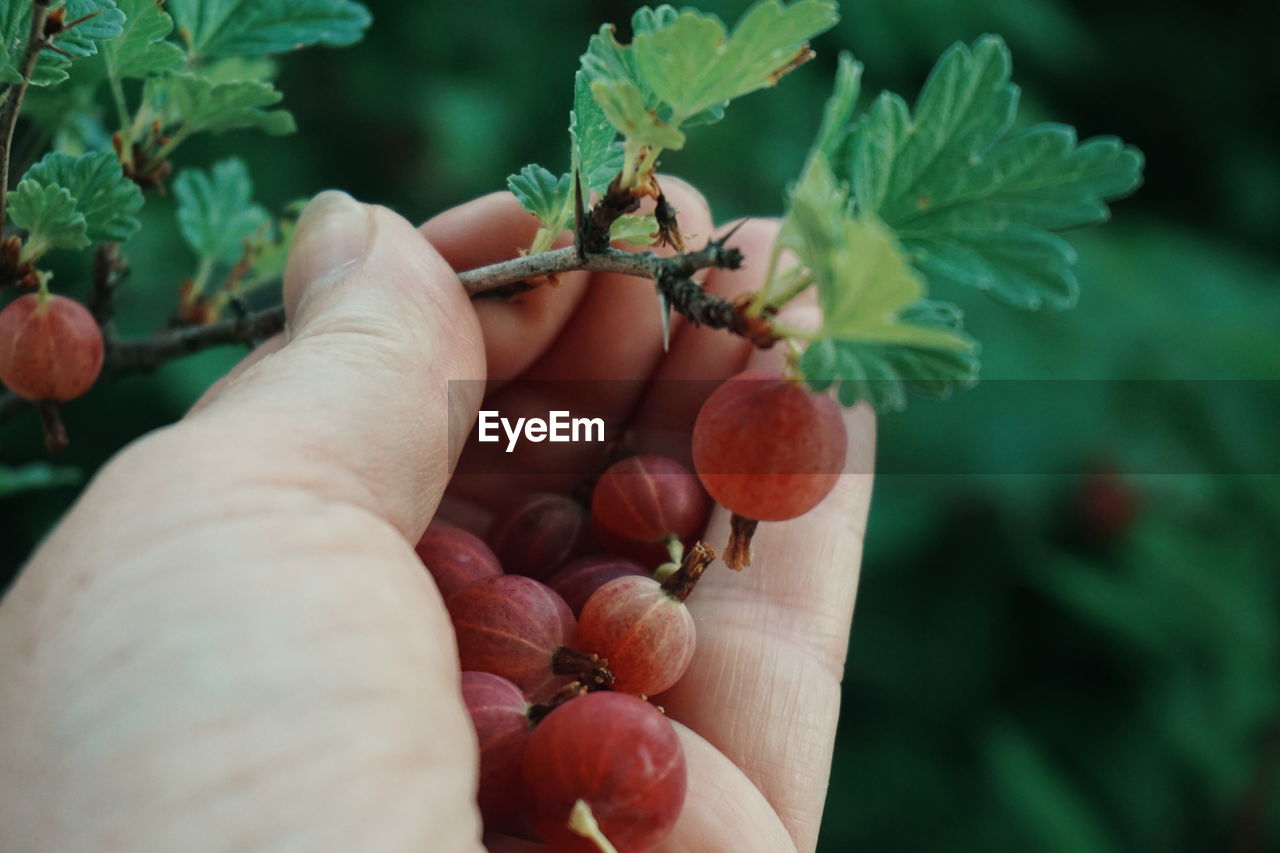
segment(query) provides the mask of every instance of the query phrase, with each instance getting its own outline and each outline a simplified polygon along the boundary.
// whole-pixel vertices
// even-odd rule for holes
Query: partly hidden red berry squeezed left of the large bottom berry
[[[525,748],[534,733],[529,702],[520,688],[492,672],[463,672],[462,701],[480,743],[480,816],[486,829],[502,829],[525,799]]]

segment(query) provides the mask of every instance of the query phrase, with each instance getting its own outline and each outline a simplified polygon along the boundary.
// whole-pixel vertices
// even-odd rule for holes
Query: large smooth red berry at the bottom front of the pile
[[[534,826],[557,853],[599,853],[570,829],[577,800],[590,806],[618,853],[652,850],[680,817],[687,772],[675,726],[625,693],[589,693],[534,729],[525,751]]]

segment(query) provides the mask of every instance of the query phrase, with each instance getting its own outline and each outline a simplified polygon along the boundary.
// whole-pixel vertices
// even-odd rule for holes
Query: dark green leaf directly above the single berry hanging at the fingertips
[[[961,319],[954,305],[920,301],[897,318],[916,333],[892,343],[822,338],[800,356],[800,371],[814,391],[836,386],[845,406],[867,400],[881,412],[905,407],[908,389],[945,397],[978,379],[978,345],[960,330]],[[929,343],[938,333],[955,346]]]

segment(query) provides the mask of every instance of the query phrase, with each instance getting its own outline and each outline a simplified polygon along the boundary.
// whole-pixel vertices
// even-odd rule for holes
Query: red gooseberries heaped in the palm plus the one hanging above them
[[[660,703],[694,657],[685,599],[716,558],[700,542],[708,493],[733,514],[726,564],[740,569],[756,521],[803,515],[831,491],[845,446],[831,398],[748,371],[703,405],[696,474],[625,459],[595,482],[590,511],[529,494],[488,544],[433,523],[417,553],[457,634],[486,830],[566,853],[637,853],[667,836],[685,758],[649,698]]]

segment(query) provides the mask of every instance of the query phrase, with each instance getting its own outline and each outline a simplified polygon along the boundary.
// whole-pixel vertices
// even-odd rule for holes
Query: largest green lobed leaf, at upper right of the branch
[[[1061,124],[1010,133],[1018,87],[996,36],[938,60],[914,111],[878,97],[854,126],[842,177],[859,210],[893,228],[934,284],[963,284],[1023,309],[1075,301],[1075,255],[1052,232],[1102,222],[1106,200],[1142,181],[1119,140],[1078,143]]]

